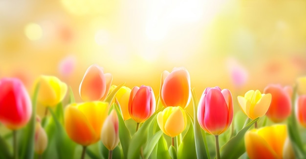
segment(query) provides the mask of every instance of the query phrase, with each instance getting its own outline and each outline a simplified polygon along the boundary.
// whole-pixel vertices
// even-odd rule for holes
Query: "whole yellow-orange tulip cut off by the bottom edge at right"
[[[282,159],[286,138],[286,125],[250,130],[244,136],[247,155],[250,159]]]

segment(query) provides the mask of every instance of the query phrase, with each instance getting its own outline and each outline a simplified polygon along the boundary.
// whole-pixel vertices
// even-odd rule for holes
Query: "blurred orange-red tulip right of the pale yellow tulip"
[[[282,88],[281,85],[268,85],[263,90],[264,94],[272,95],[271,103],[266,116],[273,122],[282,122],[287,119],[291,113],[291,99],[288,94],[290,87]]]

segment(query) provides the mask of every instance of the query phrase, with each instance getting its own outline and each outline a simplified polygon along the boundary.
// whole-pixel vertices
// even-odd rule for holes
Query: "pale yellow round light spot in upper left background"
[[[39,40],[43,35],[43,30],[40,25],[29,23],[25,26],[24,33],[29,40]]]

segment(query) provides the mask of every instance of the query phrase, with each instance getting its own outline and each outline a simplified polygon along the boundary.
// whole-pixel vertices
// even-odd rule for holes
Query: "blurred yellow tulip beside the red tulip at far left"
[[[66,93],[66,83],[54,76],[40,76],[37,79],[40,83],[37,100],[44,106],[55,106],[61,102]]]

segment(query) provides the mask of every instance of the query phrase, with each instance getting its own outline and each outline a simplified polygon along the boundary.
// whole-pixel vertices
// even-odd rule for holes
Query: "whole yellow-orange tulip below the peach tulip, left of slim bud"
[[[65,129],[69,138],[83,146],[99,141],[108,111],[108,103],[102,101],[68,105],[65,109]]]

